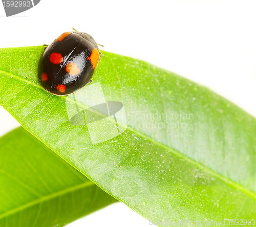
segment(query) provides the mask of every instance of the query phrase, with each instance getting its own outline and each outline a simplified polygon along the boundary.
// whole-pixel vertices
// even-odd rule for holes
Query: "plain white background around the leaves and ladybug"
[[[6,17],[0,5],[0,48],[49,44],[74,27],[102,50],[139,58],[210,87],[256,117],[256,2],[60,1]],[[16,127],[0,109],[0,133]],[[117,203],[75,226],[148,226]]]

